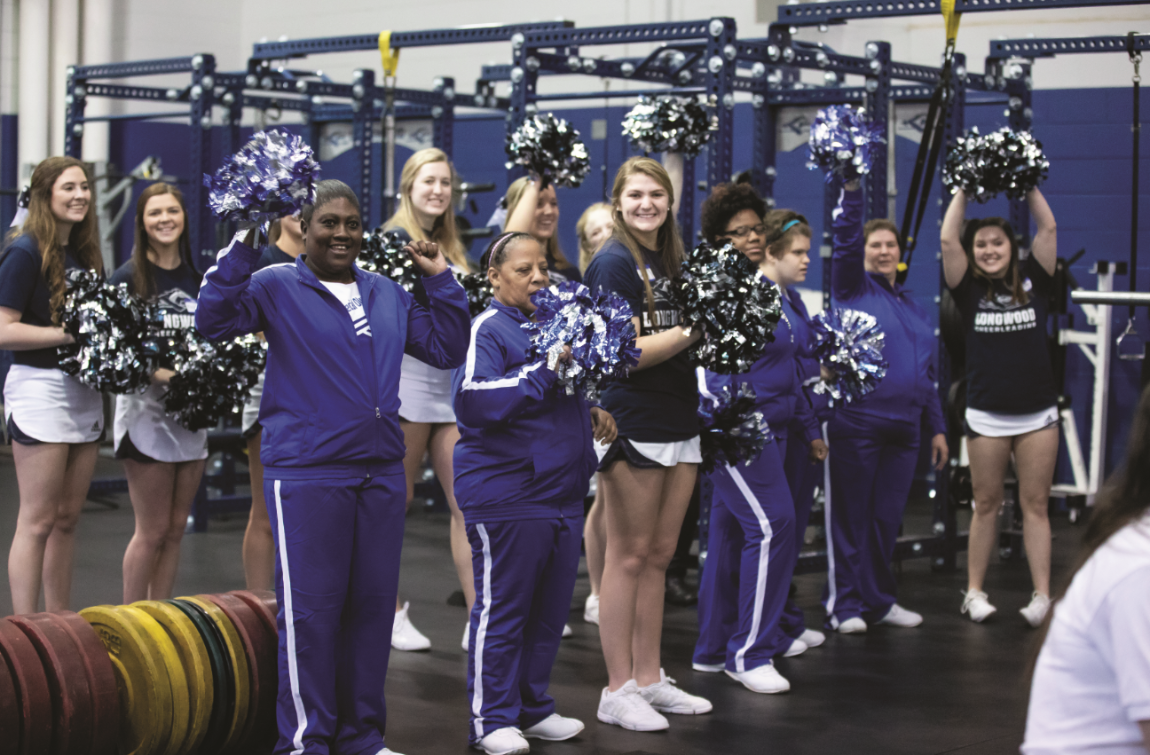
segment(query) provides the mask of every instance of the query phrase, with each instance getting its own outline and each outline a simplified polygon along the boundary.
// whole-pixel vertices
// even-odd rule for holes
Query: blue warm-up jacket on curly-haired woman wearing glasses
[[[769,278],[764,279],[775,285]],[[797,360],[800,333],[792,326],[795,313],[785,302],[783,313],[785,316],[775,328],[775,339],[767,344],[762,356],[751,365],[750,370],[738,375],[719,375],[704,370],[705,385],[700,385],[699,388],[716,395],[715,392],[721,391],[723,386],[734,392],[741,383],[745,383],[754,391],[754,408],[762,413],[770,432],[780,438],[785,437],[788,425],[791,421],[796,421],[803,427],[805,440],[811,442],[822,436],[811,403],[803,394],[800,364]],[[818,362],[815,364],[818,365]],[[815,370],[818,371],[818,367]]]

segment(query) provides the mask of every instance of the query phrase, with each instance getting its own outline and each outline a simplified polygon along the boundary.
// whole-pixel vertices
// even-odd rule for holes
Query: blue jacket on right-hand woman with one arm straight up
[[[833,214],[831,298],[836,307],[859,309],[882,326],[887,376],[872,393],[852,402],[852,413],[881,419],[918,421],[926,413],[930,434],[946,432],[935,386],[937,339],[927,314],[897,283],[866,271],[862,192],[843,190]]]

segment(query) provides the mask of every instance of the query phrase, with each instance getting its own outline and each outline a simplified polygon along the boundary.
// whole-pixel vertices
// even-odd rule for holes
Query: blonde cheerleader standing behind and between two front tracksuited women
[[[468,272],[470,265],[455,228],[452,186],[455,170],[446,153],[434,147],[420,149],[404,163],[399,176],[399,210],[384,224],[407,239],[432,241],[447,259],[448,267]],[[471,579],[471,548],[467,544],[463,515],[452,487],[452,453],[459,440],[455,413],[451,406],[451,372],[425,364],[415,356],[404,355],[399,376],[399,426],[404,430],[404,471],[407,476],[407,504],[415,498],[415,480],[423,469],[423,457],[430,455],[439,485],[451,509],[451,557],[470,610],[475,603]],[[409,603],[396,603],[391,646],[397,650],[427,650],[431,647],[408,616]],[[467,630],[463,649],[467,649]]]

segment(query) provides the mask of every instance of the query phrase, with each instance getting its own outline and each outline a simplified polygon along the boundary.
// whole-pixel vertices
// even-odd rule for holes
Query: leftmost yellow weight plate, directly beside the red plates
[[[171,681],[154,637],[141,626],[147,614],[95,606],[79,613],[108,649],[120,689],[120,752],[160,755],[171,735]],[[162,633],[163,630],[156,625]]]

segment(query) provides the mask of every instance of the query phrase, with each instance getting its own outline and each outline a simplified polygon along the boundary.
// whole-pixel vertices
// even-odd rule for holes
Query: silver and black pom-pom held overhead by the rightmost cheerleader
[[[946,153],[942,182],[951,194],[961,188],[975,202],[998,194],[1025,199],[1027,192],[1046,180],[1049,170],[1042,142],[1029,131],[1004,128],[982,136],[975,126],[956,139]]]

